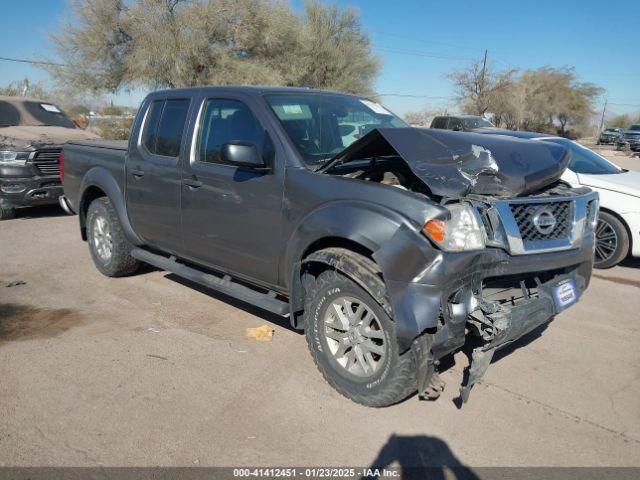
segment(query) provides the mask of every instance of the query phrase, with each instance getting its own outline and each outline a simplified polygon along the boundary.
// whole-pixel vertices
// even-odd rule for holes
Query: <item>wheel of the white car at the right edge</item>
[[[596,251],[593,266],[611,268],[629,254],[629,233],[624,224],[608,212],[600,212],[596,226]]]

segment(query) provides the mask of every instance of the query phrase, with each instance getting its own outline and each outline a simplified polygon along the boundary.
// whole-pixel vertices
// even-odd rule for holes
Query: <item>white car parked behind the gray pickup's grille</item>
[[[640,172],[620,168],[593,150],[566,138],[511,130],[495,133],[553,142],[571,150],[571,162],[562,174],[562,180],[572,187],[589,187],[600,196],[596,268],[611,268],[629,255],[640,257]]]

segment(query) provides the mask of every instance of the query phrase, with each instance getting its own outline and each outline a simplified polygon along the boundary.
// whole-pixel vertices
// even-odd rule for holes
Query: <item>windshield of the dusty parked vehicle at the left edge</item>
[[[22,98],[0,100],[0,127],[45,125],[75,128],[69,117],[52,103]]]

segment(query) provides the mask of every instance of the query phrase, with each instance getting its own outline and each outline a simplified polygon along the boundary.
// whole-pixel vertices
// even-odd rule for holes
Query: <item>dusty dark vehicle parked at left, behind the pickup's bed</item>
[[[61,145],[91,138],[98,137],[51,102],[0,96],[0,220],[19,207],[57,203]]]

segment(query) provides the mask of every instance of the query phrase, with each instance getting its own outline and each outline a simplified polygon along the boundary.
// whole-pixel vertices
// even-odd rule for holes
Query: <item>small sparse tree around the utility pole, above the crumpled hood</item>
[[[496,71],[482,61],[475,61],[465,68],[450,72],[458,102],[466,113],[484,115],[502,98],[513,84],[517,69]]]

